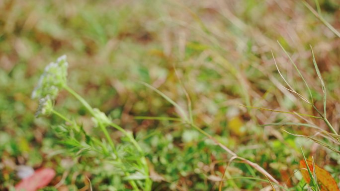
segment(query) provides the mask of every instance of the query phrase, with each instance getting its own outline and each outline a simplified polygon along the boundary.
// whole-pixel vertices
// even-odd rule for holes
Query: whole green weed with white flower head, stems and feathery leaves
[[[132,190],[151,191],[152,181],[149,177],[149,167],[145,154],[134,139],[132,132],[114,124],[104,113],[92,108],[79,94],[67,85],[68,62],[66,56],[59,57],[56,63],[48,64],[41,75],[37,87],[32,93],[32,98],[39,99],[39,108],[36,116],[54,114],[63,119],[67,124],[55,127],[61,136],[61,143],[72,148],[71,152],[82,155],[85,152],[94,152],[99,158],[106,158],[117,168],[117,175],[124,173],[123,181],[129,182]],[[96,128],[105,136],[105,140],[87,134],[84,128],[54,109],[55,98],[62,89],[68,91],[81,102],[92,116]],[[116,146],[112,141],[107,127],[114,127],[123,134],[122,140],[129,142],[128,146]]]

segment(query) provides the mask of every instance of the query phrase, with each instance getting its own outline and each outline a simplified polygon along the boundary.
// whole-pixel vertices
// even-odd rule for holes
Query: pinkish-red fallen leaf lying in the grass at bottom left
[[[51,168],[40,168],[33,175],[22,179],[15,185],[15,191],[36,191],[47,186],[56,172]]]

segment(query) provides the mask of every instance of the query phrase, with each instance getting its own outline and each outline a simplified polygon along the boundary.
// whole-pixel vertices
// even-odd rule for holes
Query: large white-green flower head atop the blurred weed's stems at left
[[[32,98],[39,99],[37,115],[48,115],[52,111],[53,101],[59,90],[66,85],[68,65],[66,55],[63,55],[56,63],[50,63],[45,67],[38,85],[32,92]]]

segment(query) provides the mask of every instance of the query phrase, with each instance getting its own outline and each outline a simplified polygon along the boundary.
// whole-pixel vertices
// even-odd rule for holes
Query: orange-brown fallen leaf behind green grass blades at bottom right
[[[309,169],[313,172],[313,162],[310,160],[307,160]],[[305,160],[300,161],[300,168],[307,169]],[[301,170],[300,171],[303,179],[309,183],[311,181],[311,178],[309,177],[307,170]],[[337,186],[336,181],[332,177],[332,175],[324,170],[323,168],[315,165],[315,174],[318,179],[318,184],[320,185],[320,191],[340,191],[339,187]]]

